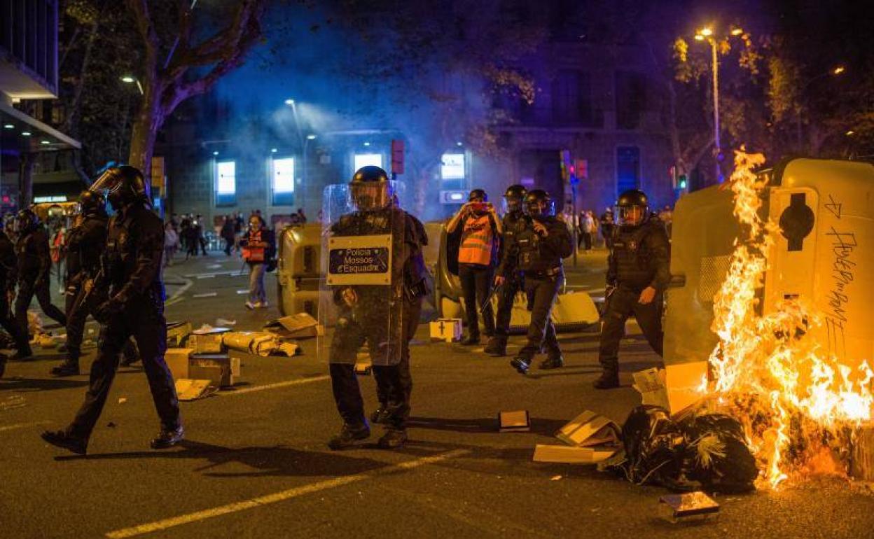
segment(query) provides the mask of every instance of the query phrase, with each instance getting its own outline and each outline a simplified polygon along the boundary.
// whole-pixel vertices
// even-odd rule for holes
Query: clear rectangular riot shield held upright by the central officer
[[[399,363],[406,343],[406,213],[393,182],[359,187],[329,185],[323,193],[319,319],[326,331],[318,353],[366,370]]]

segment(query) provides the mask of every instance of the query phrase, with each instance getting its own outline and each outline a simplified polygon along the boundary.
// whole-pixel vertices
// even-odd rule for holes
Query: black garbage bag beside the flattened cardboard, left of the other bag
[[[664,408],[637,406],[622,425],[628,480],[638,485],[669,485],[682,474],[685,439]]]

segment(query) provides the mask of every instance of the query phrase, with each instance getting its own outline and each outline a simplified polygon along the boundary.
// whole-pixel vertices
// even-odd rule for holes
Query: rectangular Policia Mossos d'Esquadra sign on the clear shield
[[[392,234],[328,238],[329,285],[392,284]]]

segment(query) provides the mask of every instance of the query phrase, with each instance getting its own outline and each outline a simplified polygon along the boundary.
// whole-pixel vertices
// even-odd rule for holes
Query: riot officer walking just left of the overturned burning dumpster
[[[616,202],[619,225],[607,259],[607,305],[601,328],[598,361],[603,368],[594,386],[619,386],[619,342],[628,316],[635,315],[643,335],[662,355],[662,304],[670,280],[670,244],[662,223],[650,215],[642,190],[627,190]]]

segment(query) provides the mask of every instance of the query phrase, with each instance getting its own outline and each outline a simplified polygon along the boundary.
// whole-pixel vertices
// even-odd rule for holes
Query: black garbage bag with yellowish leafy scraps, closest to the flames
[[[686,440],[683,470],[690,480],[713,492],[753,490],[759,470],[737,419],[711,413],[683,418],[679,427]]]

